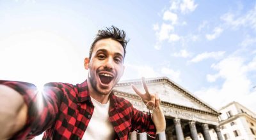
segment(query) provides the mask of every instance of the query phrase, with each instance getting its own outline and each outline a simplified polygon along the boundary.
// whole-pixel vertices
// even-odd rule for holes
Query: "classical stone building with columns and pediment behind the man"
[[[161,106],[166,118],[166,130],[158,134],[157,139],[210,140],[212,138],[209,131],[215,132],[217,139],[223,139],[218,127],[218,116],[220,115],[218,111],[166,77],[146,79],[146,82],[148,90],[151,93],[157,93],[161,98]],[[141,80],[129,80],[118,83],[114,93],[129,100],[135,108],[147,113],[148,110],[141,102],[140,97],[132,90],[132,84],[144,91]],[[151,138],[145,133],[132,132],[130,139],[145,140]]]

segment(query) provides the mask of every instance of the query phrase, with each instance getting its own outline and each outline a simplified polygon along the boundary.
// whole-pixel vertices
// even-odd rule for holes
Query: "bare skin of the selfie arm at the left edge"
[[[0,139],[9,139],[26,124],[28,106],[22,95],[5,85],[0,85]]]

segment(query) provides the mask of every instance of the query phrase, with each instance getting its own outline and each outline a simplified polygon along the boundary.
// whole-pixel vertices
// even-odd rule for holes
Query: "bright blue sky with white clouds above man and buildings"
[[[81,83],[110,25],[130,38],[122,80],[167,76],[216,109],[256,112],[255,1],[0,0],[0,79]]]

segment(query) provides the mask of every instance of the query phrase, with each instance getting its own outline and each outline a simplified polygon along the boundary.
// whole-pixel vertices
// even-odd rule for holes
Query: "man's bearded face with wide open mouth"
[[[84,59],[88,82],[98,94],[108,95],[124,73],[124,48],[111,38],[95,43],[92,58]]]

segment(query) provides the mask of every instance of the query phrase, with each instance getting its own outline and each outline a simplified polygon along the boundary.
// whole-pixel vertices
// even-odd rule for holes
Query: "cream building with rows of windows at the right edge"
[[[220,127],[224,139],[256,139],[255,113],[238,102],[230,102],[223,106],[220,112]]]

